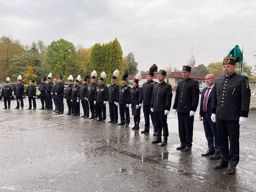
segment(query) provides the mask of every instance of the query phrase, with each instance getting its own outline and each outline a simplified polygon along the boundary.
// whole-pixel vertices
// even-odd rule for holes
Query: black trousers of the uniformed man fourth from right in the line
[[[163,137],[164,140],[168,140],[169,131],[168,131],[168,124],[167,124],[167,115],[164,114],[164,111],[161,112],[155,112],[154,111],[154,117],[155,117],[155,126],[157,130],[156,137],[159,139],[162,139],[162,130],[163,130]]]

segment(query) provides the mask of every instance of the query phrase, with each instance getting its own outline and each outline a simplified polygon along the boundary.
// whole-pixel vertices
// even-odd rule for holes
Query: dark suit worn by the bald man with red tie
[[[200,112],[199,115],[203,118],[204,124],[204,133],[206,136],[206,140],[208,142],[208,149],[210,152],[215,152],[220,154],[219,140],[218,140],[218,132],[216,123],[212,122],[212,91],[213,88],[210,89],[210,93],[208,94],[207,103],[206,103],[206,112],[203,110],[203,104],[205,99],[205,94],[208,90],[208,87],[204,88],[201,95],[200,102]],[[214,148],[215,146],[215,148]]]

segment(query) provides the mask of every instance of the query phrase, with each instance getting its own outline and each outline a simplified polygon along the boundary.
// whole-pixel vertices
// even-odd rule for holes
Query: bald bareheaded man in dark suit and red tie
[[[202,91],[199,120],[203,121],[204,133],[208,142],[208,150],[202,156],[209,156],[210,159],[220,158],[220,147],[216,123],[212,122],[212,88],[214,87],[215,77],[213,74],[205,76],[207,87]],[[215,147],[214,147],[215,146]]]

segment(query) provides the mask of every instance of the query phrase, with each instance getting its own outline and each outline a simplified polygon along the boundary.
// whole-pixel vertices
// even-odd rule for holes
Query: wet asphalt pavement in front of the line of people
[[[256,112],[240,127],[240,162],[229,175],[213,168],[218,160],[201,156],[207,141],[198,110],[192,151],[183,152],[176,150],[174,114],[168,115],[168,144],[160,146],[151,144],[152,126],[149,134],[140,133],[142,110],[140,130],[134,131],[132,116],[128,128],[109,124],[108,106],[106,122],[26,110],[28,98],[24,110],[14,110],[16,100],[9,110],[3,106],[0,100],[0,192],[256,191]]]

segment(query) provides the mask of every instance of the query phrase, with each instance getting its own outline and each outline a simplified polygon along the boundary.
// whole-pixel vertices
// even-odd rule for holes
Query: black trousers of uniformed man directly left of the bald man
[[[193,140],[193,124],[194,116],[189,116],[189,113],[178,112],[179,136],[180,144],[183,146],[191,147]]]

